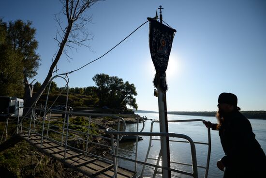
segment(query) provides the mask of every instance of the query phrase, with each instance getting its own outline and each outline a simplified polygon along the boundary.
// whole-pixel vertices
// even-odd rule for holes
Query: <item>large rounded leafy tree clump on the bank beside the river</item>
[[[123,82],[123,79],[116,76],[110,77],[107,74],[96,74],[92,80],[97,86],[96,93],[100,106],[121,109],[126,108],[128,104],[137,110],[138,106],[134,98],[137,92],[133,83]]]

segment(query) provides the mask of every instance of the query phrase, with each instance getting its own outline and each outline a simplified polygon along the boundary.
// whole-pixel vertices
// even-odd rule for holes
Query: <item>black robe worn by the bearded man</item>
[[[219,136],[225,153],[222,163],[236,175],[242,175],[236,177],[252,175],[254,178],[266,178],[265,153],[245,116],[238,111],[226,115],[219,128]]]

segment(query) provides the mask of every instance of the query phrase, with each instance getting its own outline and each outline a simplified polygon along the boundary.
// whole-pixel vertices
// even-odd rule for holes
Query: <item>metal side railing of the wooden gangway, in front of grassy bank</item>
[[[82,128],[86,128],[86,129],[97,129],[98,130],[98,128],[91,128],[89,126],[82,126],[82,125],[76,125],[76,124],[70,123],[69,122],[69,114],[70,114],[70,112],[64,112],[64,111],[58,111],[58,112],[56,112],[56,113],[66,113],[66,122],[65,122],[66,123],[66,127],[60,127],[60,126],[52,125],[50,122],[45,123],[45,117],[35,118],[35,114],[34,114],[35,108],[31,108],[30,110],[31,110],[30,117],[21,117],[21,119],[20,119],[21,120],[21,122],[19,124],[19,127],[21,128],[20,131],[22,132],[22,129],[23,130],[27,129],[27,131],[28,131],[28,139],[30,138],[30,132],[37,133],[38,135],[40,135],[41,136],[41,138],[40,138],[41,139],[41,147],[42,147],[42,144],[43,144],[43,139],[46,138],[46,139],[49,139],[51,141],[54,141],[54,142],[59,143],[60,145],[64,146],[65,147],[65,151],[66,151],[67,148],[73,148],[73,149],[75,149],[77,151],[80,151],[80,152],[83,152],[83,153],[86,153],[86,154],[89,154],[89,155],[92,155],[92,156],[96,156],[96,155],[93,155],[93,154],[89,153],[88,150],[87,150],[87,148],[86,148],[86,151],[84,151],[82,149],[78,149],[78,148],[75,148],[75,147],[70,146],[70,145],[67,144],[68,137],[77,138],[77,135],[79,135],[79,134],[87,135],[87,140],[84,139],[84,138],[78,138],[78,140],[84,141],[86,143],[86,146],[88,145],[88,143],[91,143],[91,144],[96,144],[96,145],[99,145],[99,146],[106,146],[106,147],[109,147],[109,148],[111,147],[111,146],[108,146],[108,145],[103,145],[103,144],[100,144],[100,143],[91,142],[88,139],[89,136],[92,136],[92,137],[101,137],[104,140],[110,140],[110,138],[108,138],[106,136],[91,134],[91,133],[89,133],[87,131],[86,132],[83,132],[83,131],[79,131],[79,130],[69,129],[68,126],[73,125],[73,126],[79,126],[79,127],[82,127]],[[51,113],[51,110],[50,111],[49,110],[46,110],[45,111],[44,109],[41,109],[41,108],[39,110],[40,111],[44,111],[45,113]],[[120,123],[123,125],[122,131],[124,131],[126,129],[125,120],[122,117],[119,117],[119,116],[116,116],[116,115],[101,114],[101,113],[82,113],[82,112],[72,112],[72,114],[79,115],[79,116],[89,116],[89,117],[90,116],[95,116],[95,117],[108,116],[108,117],[111,117],[112,119],[117,120],[118,125]],[[22,118],[24,118],[27,121],[27,122],[24,122],[24,123],[27,123],[26,127],[24,126],[25,124],[24,125],[22,124],[22,120],[23,120]],[[50,120],[51,118],[49,117],[48,119]],[[54,120],[54,119],[51,119],[51,120],[54,121],[54,122],[59,122],[60,124],[63,123],[61,121],[57,121],[57,120]],[[33,121],[33,128],[34,129],[31,129],[31,121]],[[95,123],[95,124],[96,125],[100,125],[98,123]],[[61,129],[62,131],[65,130],[65,134],[64,133],[62,134],[62,131],[59,132],[59,131],[56,131],[56,130],[50,128],[51,131],[62,134],[62,137],[65,137],[64,142],[62,142],[62,141],[60,142],[60,141],[57,141],[55,139],[52,139],[52,138],[49,138],[48,137],[48,134],[47,133],[48,133],[49,125],[50,126],[53,126],[53,128]],[[40,131],[40,133],[38,133],[37,131],[35,131],[35,127],[36,127],[36,129],[38,129]],[[47,135],[46,137],[44,136],[44,129],[47,129],[47,132],[45,133],[45,135]],[[114,130],[112,128],[109,128],[109,129]],[[118,127],[118,130],[119,129],[120,129],[120,127]],[[104,129],[99,129],[99,130],[104,130]],[[17,133],[18,133],[18,129],[17,129]],[[70,135],[70,134],[73,134],[73,136]],[[117,140],[115,140],[115,141],[119,143],[119,140],[121,140],[121,138],[122,138],[122,135],[120,135],[120,136],[118,135],[117,136]],[[117,147],[117,150],[116,150],[117,153],[118,153],[118,150],[120,150],[120,149]],[[64,154],[64,157],[65,157],[65,154]],[[99,157],[99,158],[101,158],[101,159],[103,159],[105,161],[108,160],[108,159],[104,159],[102,157]],[[110,160],[108,160],[108,162],[110,162]]]

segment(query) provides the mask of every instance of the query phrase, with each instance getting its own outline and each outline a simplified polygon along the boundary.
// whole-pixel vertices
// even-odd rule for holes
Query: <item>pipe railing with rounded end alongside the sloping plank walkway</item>
[[[45,112],[45,111],[44,111]],[[46,118],[44,117],[35,117],[35,114],[34,114],[34,109],[32,108],[32,114],[31,114],[31,117],[18,117],[17,118],[17,123],[19,123],[17,125],[17,133],[25,133],[27,132],[28,133],[28,139],[30,139],[30,134],[31,133],[34,133],[36,135],[39,135],[41,136],[41,144],[40,144],[40,147],[43,146],[43,140],[44,139],[48,139],[48,140],[51,140],[61,146],[64,146],[65,147],[65,152],[64,152],[64,159],[66,157],[66,150],[67,148],[71,148],[71,149],[74,149],[78,152],[82,152],[82,153],[85,153],[87,155],[91,155],[91,156],[94,156],[96,158],[99,158],[101,160],[104,160],[104,161],[107,161],[107,162],[111,162],[110,160],[108,159],[105,159],[103,157],[99,157],[98,155],[95,155],[95,154],[92,154],[90,152],[88,152],[88,147],[89,147],[89,144],[94,144],[94,145],[98,145],[98,146],[101,146],[101,147],[106,147],[106,148],[111,148],[111,146],[108,146],[108,145],[104,145],[104,144],[100,144],[100,143],[97,143],[97,142],[93,142],[91,140],[89,140],[89,137],[93,137],[93,138],[101,138],[101,139],[104,139],[104,140],[107,140],[109,141],[110,138],[109,137],[105,137],[105,136],[101,136],[101,135],[96,135],[96,134],[93,134],[93,133],[90,133],[90,130],[96,130],[96,131],[102,131],[104,132],[105,129],[101,129],[101,128],[94,128],[94,127],[91,127],[91,123],[97,125],[97,126],[100,126],[102,127],[101,125],[97,124],[96,122],[94,122],[93,118],[92,117],[103,117],[103,116],[108,116],[110,118],[112,118],[113,120],[116,120],[117,121],[117,125],[118,125],[118,130],[120,129],[120,124],[122,124],[122,131],[124,131],[126,129],[126,123],[124,121],[123,118],[119,117],[119,116],[114,116],[114,115],[108,115],[108,114],[97,114],[97,113],[82,113],[82,112],[72,112],[71,114],[73,115],[78,115],[78,116],[88,116],[88,124],[86,126],[84,125],[77,125],[77,124],[72,124],[70,123],[70,117],[69,117],[69,114],[70,112],[59,112],[59,111],[46,111],[46,113],[50,113],[49,116]],[[65,119],[65,123],[58,120],[58,119],[53,119],[51,118],[51,113],[52,114],[55,114],[55,113],[58,113],[58,114],[66,114],[66,119]],[[59,125],[57,125],[56,123],[59,123],[61,125],[65,125],[66,127],[60,127]],[[86,131],[80,131],[80,130],[75,130],[75,129],[70,129],[69,127],[70,126],[73,126],[73,127],[80,127],[80,128],[84,128],[86,129]],[[107,126],[105,126],[105,128],[108,128]],[[112,128],[108,128],[108,129],[111,129],[111,130],[115,130],[115,129],[112,129]],[[56,138],[53,138],[53,136],[49,133],[56,133],[58,135],[62,135],[63,139],[56,139]],[[82,137],[85,136],[85,137]],[[121,140],[122,136],[120,135],[116,135],[117,136],[117,139],[115,140],[117,143],[119,143],[119,140]],[[85,143],[86,145],[86,148],[83,150],[83,149],[79,149],[77,147],[74,147],[74,146],[71,146],[70,144],[68,144],[69,140],[70,139],[75,139],[75,140],[78,140],[78,141],[81,141],[83,143]],[[97,139],[96,139],[97,140]],[[118,152],[119,148],[117,148],[117,152]]]

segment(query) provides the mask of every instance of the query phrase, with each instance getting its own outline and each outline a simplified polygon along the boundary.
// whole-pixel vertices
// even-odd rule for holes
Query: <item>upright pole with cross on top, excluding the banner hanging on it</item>
[[[160,22],[163,23],[163,15],[162,15],[162,6],[158,8],[160,9]],[[167,105],[166,105],[166,91],[163,91],[161,87],[161,79],[160,73],[158,71],[157,77],[157,89],[158,89],[158,107],[159,107],[159,120],[160,120],[160,132],[168,133],[168,119],[167,119]],[[162,153],[162,166],[163,167],[171,167],[170,163],[170,148],[169,148],[169,137],[161,137],[161,153]],[[163,178],[171,178],[171,171],[163,169]]]

